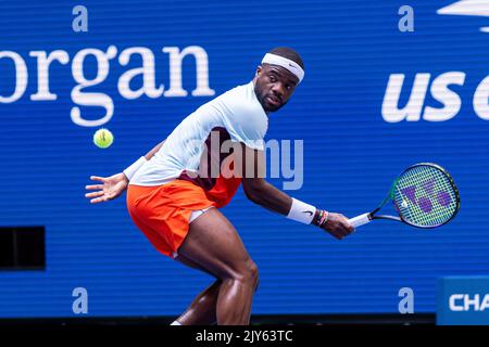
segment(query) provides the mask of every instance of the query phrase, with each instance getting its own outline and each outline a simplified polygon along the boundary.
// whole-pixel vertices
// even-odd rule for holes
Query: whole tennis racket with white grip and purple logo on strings
[[[389,201],[399,216],[377,215]],[[441,166],[419,163],[406,168],[392,183],[389,194],[373,211],[349,219],[360,227],[374,219],[390,219],[417,228],[437,228],[452,220],[460,196],[452,177]]]

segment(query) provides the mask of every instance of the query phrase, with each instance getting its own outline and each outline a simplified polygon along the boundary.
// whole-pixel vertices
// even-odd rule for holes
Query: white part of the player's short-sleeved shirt
[[[268,117],[256,99],[253,81],[233,88],[186,117],[129,183],[161,185],[184,171],[197,172],[212,130],[263,151],[267,128]]]

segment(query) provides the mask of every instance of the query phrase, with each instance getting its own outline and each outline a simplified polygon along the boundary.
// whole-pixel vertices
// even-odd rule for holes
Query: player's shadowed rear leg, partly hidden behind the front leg
[[[206,269],[202,268],[198,264],[178,255],[175,260],[203,272],[210,273]],[[212,273],[210,273],[213,275]],[[176,322],[181,325],[211,325],[216,322],[216,305],[217,295],[220,293],[221,280],[216,280],[212,285],[200,293],[187,310],[176,319]]]

